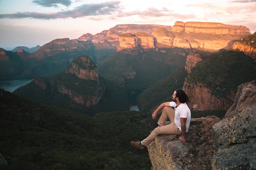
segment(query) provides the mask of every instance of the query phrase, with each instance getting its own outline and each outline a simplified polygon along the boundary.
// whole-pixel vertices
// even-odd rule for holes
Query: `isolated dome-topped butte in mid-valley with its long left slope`
[[[105,93],[105,85],[88,56],[75,58],[66,71],[51,79],[36,77],[14,91],[18,95],[62,108],[91,108]]]

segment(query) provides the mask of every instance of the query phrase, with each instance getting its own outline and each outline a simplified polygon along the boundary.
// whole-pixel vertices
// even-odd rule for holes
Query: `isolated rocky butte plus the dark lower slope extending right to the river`
[[[52,78],[36,77],[14,93],[33,101],[88,115],[129,108],[125,92],[113,88],[111,82],[102,79],[88,56],[75,58],[65,71]]]

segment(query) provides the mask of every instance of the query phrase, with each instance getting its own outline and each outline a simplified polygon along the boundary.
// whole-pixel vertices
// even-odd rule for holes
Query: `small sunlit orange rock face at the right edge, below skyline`
[[[233,50],[239,50],[256,61],[256,32],[251,36],[241,38],[232,45]]]

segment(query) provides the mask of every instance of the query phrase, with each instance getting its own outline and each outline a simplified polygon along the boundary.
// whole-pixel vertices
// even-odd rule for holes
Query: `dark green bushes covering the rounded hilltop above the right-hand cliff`
[[[198,62],[187,80],[204,84],[212,94],[226,98],[242,83],[255,79],[255,72],[256,64],[242,52],[223,51]]]

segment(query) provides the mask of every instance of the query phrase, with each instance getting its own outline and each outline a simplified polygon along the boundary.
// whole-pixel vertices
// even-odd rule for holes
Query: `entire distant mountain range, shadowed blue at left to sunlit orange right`
[[[177,21],[173,27],[117,25],[95,35],[87,33],[72,40],[55,39],[42,45],[34,53],[19,49],[15,53],[20,56],[21,62],[7,62],[8,55],[0,55],[0,66],[3,66],[1,71],[5,74],[0,79],[52,77],[65,70],[70,62],[80,55],[88,55],[97,63],[121,50],[159,50],[158,48],[175,47],[203,51],[230,49],[234,41],[249,35],[249,29],[244,26],[230,26],[217,22]]]

